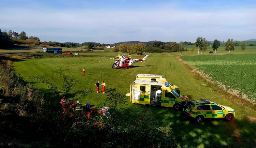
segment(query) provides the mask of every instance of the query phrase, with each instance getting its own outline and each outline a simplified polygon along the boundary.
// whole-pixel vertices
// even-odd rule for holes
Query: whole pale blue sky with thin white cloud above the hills
[[[253,0],[0,0],[0,29],[76,43],[248,40],[255,8]]]

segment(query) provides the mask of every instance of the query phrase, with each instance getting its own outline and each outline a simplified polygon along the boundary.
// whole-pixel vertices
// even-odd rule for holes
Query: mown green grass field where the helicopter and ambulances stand
[[[227,53],[227,51],[225,52]],[[239,52],[243,51],[240,50]],[[244,52],[256,53],[255,50],[245,50]],[[191,54],[190,51],[184,51],[184,53]],[[198,77],[191,72],[188,66],[180,62],[175,55],[172,55],[179,53],[150,54],[151,56],[147,58],[146,62],[136,62],[131,69],[112,69],[113,60],[98,62],[114,57],[118,53],[82,54],[104,55],[105,57],[25,59],[14,62],[13,68],[27,82],[31,82],[30,76],[39,76],[49,79],[59,89],[61,89],[64,75],[74,78],[77,84],[73,92],[76,90],[94,90],[93,93],[84,96],[79,101],[82,104],[90,102],[91,106],[97,108],[108,105],[108,102],[105,102],[106,94],[96,94],[95,83],[97,80],[105,81],[106,93],[113,90],[129,93],[130,84],[135,80],[137,74],[162,74],[167,80],[179,87],[182,95],[188,96],[192,100],[204,98],[217,104],[224,104],[236,112],[236,118],[231,122],[210,120],[198,124],[185,118],[181,111],[172,108],[145,106],[152,109],[159,125],[167,123],[172,126],[174,135],[182,147],[255,147],[255,105],[227,94]],[[141,57],[143,56],[132,55],[132,58]],[[86,76],[82,75],[83,67],[86,69]],[[46,97],[51,97],[52,93],[47,86],[36,81],[32,81],[32,83],[40,88]],[[130,107],[129,101],[127,103],[127,107]]]

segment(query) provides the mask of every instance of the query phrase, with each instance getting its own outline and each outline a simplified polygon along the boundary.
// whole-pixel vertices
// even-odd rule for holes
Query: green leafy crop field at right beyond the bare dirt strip
[[[193,68],[207,74],[214,82],[225,85],[227,90],[238,90],[256,101],[255,54],[183,56]]]

